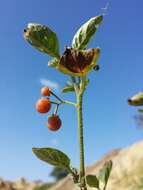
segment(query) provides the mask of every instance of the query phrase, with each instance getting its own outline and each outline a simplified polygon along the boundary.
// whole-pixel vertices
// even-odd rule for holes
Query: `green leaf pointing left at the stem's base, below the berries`
[[[54,166],[70,169],[69,157],[60,150],[53,148],[33,148],[32,150],[40,160]]]

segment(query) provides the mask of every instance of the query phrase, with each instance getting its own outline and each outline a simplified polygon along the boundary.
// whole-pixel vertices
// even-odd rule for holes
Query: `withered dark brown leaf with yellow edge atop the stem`
[[[77,50],[66,47],[58,66],[59,71],[70,76],[86,76],[96,65],[100,56],[100,48]]]

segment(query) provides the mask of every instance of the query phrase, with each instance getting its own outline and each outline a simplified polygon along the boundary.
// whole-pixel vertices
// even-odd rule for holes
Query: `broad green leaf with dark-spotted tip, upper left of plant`
[[[30,23],[24,30],[24,38],[36,49],[59,58],[59,42],[55,32],[47,26]]]

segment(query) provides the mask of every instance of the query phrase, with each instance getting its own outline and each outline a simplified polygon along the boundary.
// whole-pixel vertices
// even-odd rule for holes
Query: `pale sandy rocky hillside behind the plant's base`
[[[113,161],[107,190],[143,190],[143,141],[108,153],[101,160],[88,167],[86,173],[98,174],[107,160]],[[74,186],[70,176],[68,176],[47,189],[77,190],[78,188]],[[0,190],[45,190],[45,185],[40,181],[30,183],[23,178],[15,182],[6,182],[0,179]],[[89,190],[91,189],[89,188]]]

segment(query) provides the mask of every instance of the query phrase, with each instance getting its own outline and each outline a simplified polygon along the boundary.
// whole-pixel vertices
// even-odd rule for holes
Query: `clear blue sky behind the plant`
[[[46,128],[48,115],[35,111],[41,80],[64,86],[67,76],[47,67],[50,59],[23,39],[29,22],[48,25],[57,32],[60,49],[70,45],[78,27],[102,12],[105,0],[1,1],[0,3],[0,176],[50,180],[51,166],[32,154],[33,146],[64,150],[74,166],[79,163],[76,114],[61,107],[63,125],[58,133]],[[84,98],[86,165],[106,152],[142,139],[127,98],[143,90],[143,2],[109,1],[108,14],[90,47],[99,46],[101,70],[89,76]],[[59,91],[58,91],[59,93]],[[74,96],[63,98],[74,100]]]

